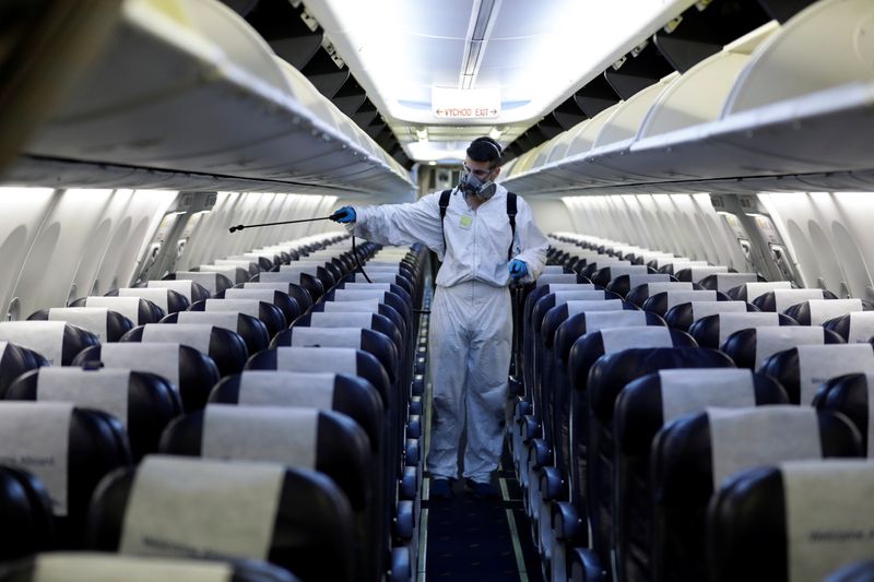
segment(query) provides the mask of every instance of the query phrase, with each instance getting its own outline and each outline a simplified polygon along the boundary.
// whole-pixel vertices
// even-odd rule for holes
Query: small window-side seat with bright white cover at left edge
[[[69,366],[83,349],[101,345],[95,334],[63,321],[2,321],[0,341],[33,349],[49,366]]]

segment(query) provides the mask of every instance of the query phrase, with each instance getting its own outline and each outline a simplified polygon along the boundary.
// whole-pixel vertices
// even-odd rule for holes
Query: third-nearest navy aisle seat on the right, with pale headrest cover
[[[700,497],[697,498],[699,502],[695,510],[681,513],[685,519],[678,523],[666,523],[665,516],[653,514],[653,502],[659,507],[658,501],[662,496],[652,495],[658,482],[650,477],[650,466],[653,461],[657,462],[657,458],[651,459],[650,453],[653,439],[662,426],[671,426],[685,415],[704,412],[706,406],[743,407],[788,403],[789,399],[782,387],[772,378],[745,369],[654,372],[625,385],[616,401],[614,413],[616,495],[613,500],[613,518],[619,580],[652,580],[657,578],[650,575],[654,563],[665,572],[658,577],[659,580],[681,580],[675,570],[687,567],[694,570],[687,563],[695,561],[700,566],[704,556],[700,538],[704,534],[701,516],[706,502],[700,503]],[[767,443],[761,443],[761,447],[767,447]],[[705,453],[696,461],[700,466],[706,465],[708,460],[709,453]],[[699,528],[694,535],[685,535],[693,531],[690,525]],[[653,531],[661,536],[665,546],[680,546],[681,549],[671,555],[662,551],[659,559],[651,560]],[[684,545],[686,548],[693,545],[697,550],[687,551]],[[684,563],[676,565],[676,561]],[[697,580],[702,579],[701,571]],[[682,580],[696,580],[696,577],[685,577]]]

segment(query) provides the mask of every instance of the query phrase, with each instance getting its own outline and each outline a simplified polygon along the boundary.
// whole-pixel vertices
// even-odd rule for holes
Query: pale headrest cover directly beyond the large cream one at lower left
[[[201,454],[316,468],[319,411],[209,404]]]

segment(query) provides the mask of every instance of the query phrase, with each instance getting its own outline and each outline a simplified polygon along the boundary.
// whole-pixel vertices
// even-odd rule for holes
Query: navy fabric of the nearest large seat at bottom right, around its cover
[[[802,475],[805,490],[818,494],[811,502],[816,503],[824,518],[820,531],[825,536],[828,532],[846,532],[843,520],[866,511],[870,506],[870,495],[858,497],[835,487],[847,479],[866,484],[874,480],[874,465],[866,460],[780,463],[740,473],[714,494],[708,508],[708,580],[790,582],[794,580],[789,575],[791,559],[799,560],[796,568],[807,579],[822,580],[841,566],[870,558],[869,545],[854,543],[858,538],[852,534],[829,538],[831,544],[826,547],[840,544],[846,548],[840,554],[819,553],[810,545],[805,546],[806,551],[799,553],[796,548],[791,553],[793,514],[786,484]],[[832,561],[836,557],[838,560]]]

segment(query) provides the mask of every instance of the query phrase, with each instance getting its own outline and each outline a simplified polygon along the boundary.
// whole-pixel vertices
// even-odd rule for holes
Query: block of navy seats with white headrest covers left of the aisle
[[[353,261],[329,242],[257,251],[255,281],[177,272],[0,324],[0,395],[38,401],[0,403],[4,502],[21,518],[3,558],[87,547],[409,579],[427,256],[365,244]],[[365,261],[382,282],[356,281]]]

